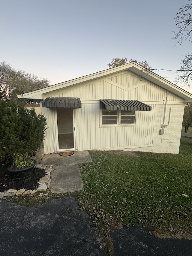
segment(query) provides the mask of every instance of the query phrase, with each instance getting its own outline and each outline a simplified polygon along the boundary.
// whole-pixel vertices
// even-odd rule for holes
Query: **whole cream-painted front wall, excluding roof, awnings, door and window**
[[[176,129],[178,134],[182,124],[184,104],[182,99],[168,94],[168,104],[173,103],[172,125],[166,129],[171,143],[175,146],[168,147],[165,137],[159,135],[161,123],[163,122],[164,106],[167,92],[158,86],[145,80],[140,80],[128,72],[122,72],[116,76],[94,80],[77,86],[69,86],[57,92],[52,92],[46,97],[79,97],[82,108],[74,109],[75,120],[75,149],[132,149],[152,152],[178,152],[180,139],[178,136],[171,137],[169,129]],[[122,99],[139,100],[150,106],[151,111],[136,111],[135,125],[102,126],[99,99]],[[177,105],[176,105],[177,104]],[[167,105],[168,106],[168,105]],[[177,107],[176,107],[177,106]],[[167,107],[168,108],[168,107]],[[176,114],[176,109],[179,111]],[[42,109],[47,119],[45,139],[45,152],[56,151],[57,129],[56,115],[54,109]],[[166,118],[168,111],[166,113]],[[166,119],[167,120],[167,119]],[[175,125],[173,126],[173,123]],[[177,126],[176,124],[179,124]],[[179,127],[179,128],[178,128]],[[173,131],[173,130],[172,130]],[[166,143],[162,143],[165,141]],[[174,144],[175,143],[175,144]],[[159,145],[161,144],[161,147]],[[159,147],[159,148],[158,148]],[[167,150],[167,151],[166,151]]]

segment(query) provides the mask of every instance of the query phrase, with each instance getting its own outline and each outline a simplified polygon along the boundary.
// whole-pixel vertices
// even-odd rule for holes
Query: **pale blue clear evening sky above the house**
[[[108,69],[113,58],[180,69],[191,43],[176,45],[187,0],[0,0],[0,62],[51,84]],[[154,71],[174,83],[176,71]],[[177,84],[182,86],[182,84]],[[192,86],[184,90],[192,93]]]

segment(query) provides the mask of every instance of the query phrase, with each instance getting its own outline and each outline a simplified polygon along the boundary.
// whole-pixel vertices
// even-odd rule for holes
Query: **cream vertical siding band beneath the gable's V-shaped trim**
[[[67,88],[56,94],[48,94],[46,97],[79,97],[80,99],[121,99],[139,101],[162,101],[166,100],[166,91],[152,84],[146,83],[141,86],[122,89],[122,87],[110,84],[110,81],[101,80],[97,83],[82,85],[79,88]],[[169,101],[180,101],[181,99],[169,94]]]

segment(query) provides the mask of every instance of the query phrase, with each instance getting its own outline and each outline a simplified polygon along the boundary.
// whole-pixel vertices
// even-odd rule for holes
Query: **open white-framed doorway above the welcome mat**
[[[61,149],[74,149],[73,108],[57,108],[58,144]]]

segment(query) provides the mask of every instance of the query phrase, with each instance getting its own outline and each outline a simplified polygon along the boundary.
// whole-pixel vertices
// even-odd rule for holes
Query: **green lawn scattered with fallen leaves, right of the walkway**
[[[79,165],[79,202],[100,230],[148,225],[159,235],[192,238],[192,138],[181,138],[179,155],[89,153],[93,162]]]

